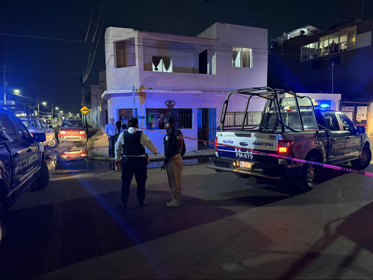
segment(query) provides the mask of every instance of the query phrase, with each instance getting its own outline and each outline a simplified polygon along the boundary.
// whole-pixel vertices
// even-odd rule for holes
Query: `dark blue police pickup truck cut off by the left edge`
[[[22,121],[13,113],[26,115],[29,122],[36,121],[27,106],[1,105],[0,109],[0,246],[6,234],[7,212],[22,193],[44,189],[49,172],[44,161],[45,133],[28,132]]]

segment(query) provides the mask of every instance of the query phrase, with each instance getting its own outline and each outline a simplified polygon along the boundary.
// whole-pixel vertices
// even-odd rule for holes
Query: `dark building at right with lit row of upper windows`
[[[370,131],[372,30],[373,20],[355,19],[325,30],[308,25],[284,33],[273,39],[276,43],[268,57],[268,84],[304,93],[341,94],[336,109]],[[368,117],[362,113],[366,111]]]

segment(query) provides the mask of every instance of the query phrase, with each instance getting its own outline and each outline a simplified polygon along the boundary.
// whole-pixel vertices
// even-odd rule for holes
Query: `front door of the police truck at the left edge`
[[[26,127],[15,115],[9,115],[18,136],[18,156],[15,162],[15,184],[17,185],[16,196],[21,195],[28,184],[25,183],[37,170],[39,163],[38,145],[27,133]],[[20,187],[22,186],[22,187]]]

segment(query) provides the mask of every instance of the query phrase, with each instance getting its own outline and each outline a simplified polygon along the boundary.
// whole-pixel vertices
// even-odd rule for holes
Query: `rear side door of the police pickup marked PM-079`
[[[344,161],[346,133],[341,130],[338,116],[334,112],[324,112],[327,134],[329,136],[328,163],[336,164]]]

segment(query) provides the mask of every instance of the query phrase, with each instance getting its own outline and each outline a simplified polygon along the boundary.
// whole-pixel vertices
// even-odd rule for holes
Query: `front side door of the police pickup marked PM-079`
[[[354,124],[344,113],[337,113],[339,121],[343,127],[343,131],[346,133],[345,137],[345,161],[353,161],[358,159],[360,155],[360,142],[361,137],[357,132]]]

